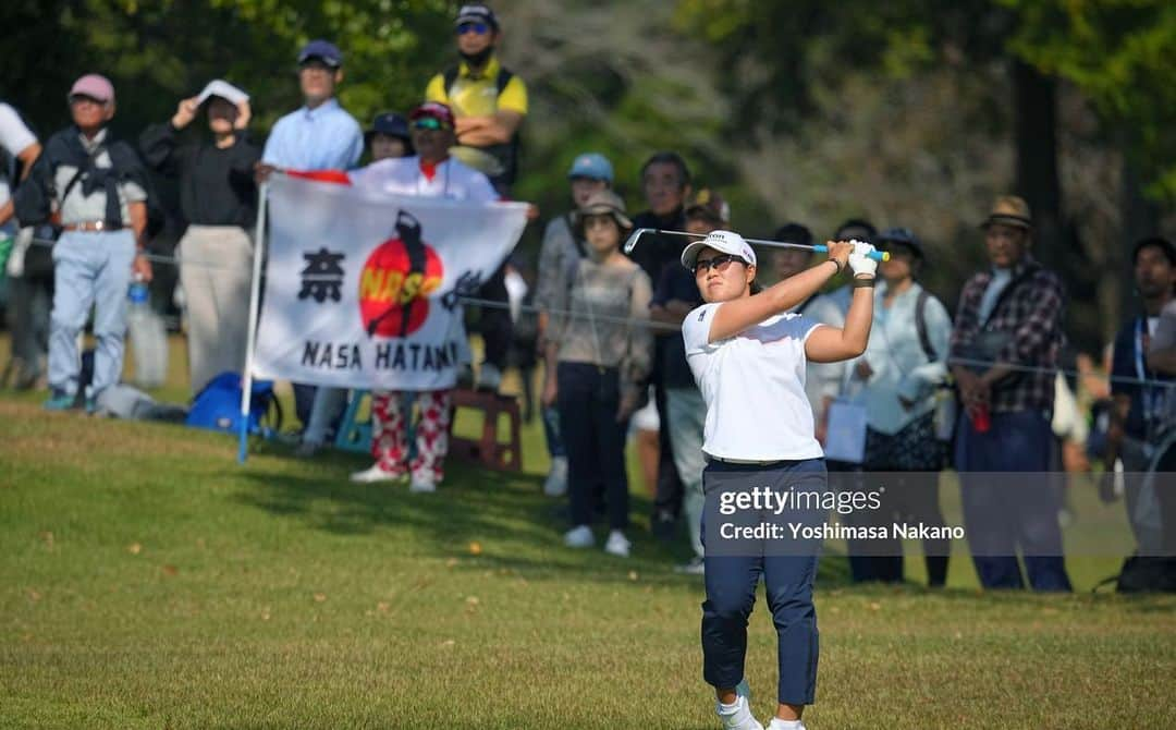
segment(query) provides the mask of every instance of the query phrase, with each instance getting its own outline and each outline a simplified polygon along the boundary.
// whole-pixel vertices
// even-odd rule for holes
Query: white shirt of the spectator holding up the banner
[[[494,203],[501,199],[485,174],[453,158],[432,170],[423,167],[421,158],[416,155],[392,158],[353,170],[348,177],[353,185],[389,194],[474,203]]]

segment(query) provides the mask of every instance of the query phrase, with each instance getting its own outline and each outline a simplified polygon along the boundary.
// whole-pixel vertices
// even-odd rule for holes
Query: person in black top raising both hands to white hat
[[[212,139],[181,144],[181,132],[201,107]],[[249,95],[218,79],[200,94],[181,100],[171,121],[152,125],[139,137],[147,165],[180,181],[180,210],[188,227],[178,250],[193,393],[218,374],[245,367],[253,268],[248,230],[258,214],[253,168],[261,159],[248,135],[250,115]],[[218,268],[209,268],[207,261],[218,261]]]

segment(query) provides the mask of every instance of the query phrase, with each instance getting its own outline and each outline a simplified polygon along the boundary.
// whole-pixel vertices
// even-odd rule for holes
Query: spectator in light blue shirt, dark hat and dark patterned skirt
[[[937,393],[946,384],[951,318],[947,307],[923,288],[917,277],[926,260],[922,243],[910,228],[887,228],[875,237],[890,258],[878,265],[882,287],[875,292],[874,326],[866,353],[850,370],[850,392],[866,406],[867,472],[938,472],[944,442],[937,431]],[[950,419],[951,414],[948,414]],[[950,424],[954,425],[954,424]],[[881,507],[854,515],[861,526],[893,523],[942,527],[938,483],[931,476],[901,479],[881,496]],[[897,539],[847,540],[855,582],[902,583],[902,543]],[[928,584],[947,580],[950,543],[924,539]]]

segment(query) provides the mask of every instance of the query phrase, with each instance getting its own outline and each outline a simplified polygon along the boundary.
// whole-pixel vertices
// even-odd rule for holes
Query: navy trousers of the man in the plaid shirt
[[[991,427],[978,433],[967,416],[956,427],[956,467],[964,527],[976,575],[984,588],[1023,589],[1020,549],[1029,584],[1038,591],[1069,591],[1062,558],[1062,483],[1049,484],[1054,432],[1044,413],[993,413]],[[1002,489],[993,478],[968,472],[1042,472],[1041,482],[1022,495]],[[1011,499],[1011,502],[1010,502]]]

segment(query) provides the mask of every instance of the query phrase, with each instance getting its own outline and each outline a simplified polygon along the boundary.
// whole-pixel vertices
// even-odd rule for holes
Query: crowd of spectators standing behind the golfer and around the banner
[[[123,370],[128,292],[155,273],[145,256],[162,217],[153,174],[176,181],[187,224],[178,252],[193,394],[245,367],[250,271],[261,245],[254,240],[258,191],[269,175],[345,171],[352,185],[386,193],[508,198],[524,172],[519,139],[528,100],[524,79],[497,55],[500,36],[489,7],[463,6],[454,21],[455,64],[423,85],[419,106],[377,114],[367,130],[336,99],[345,54],[329,41],[310,41],[296,57],[303,105],[281,117],[263,145],[250,134],[249,95],[223,80],[180,100],[171,119],[138,140],[111,132],[115,88],[96,73],[68,89],[72,124],[44,141],[14,106],[0,104],[0,261],[13,353],[6,377],[21,387],[46,386],[48,410],[101,409]],[[206,131],[193,133],[196,127]],[[485,359],[476,387],[496,391],[520,349],[522,361],[541,363],[537,412],[552,463],[543,491],[567,498],[564,543],[573,549],[595,545],[594,525],[607,522],[604,551],[629,555],[626,450],[634,433],[652,492],[652,530],[689,544],[691,558],[679,570],[702,573],[706,407],[681,333],[702,299],[695,272],[680,263],[688,239],[650,233],[632,253],[623,243],[635,228],[706,235],[730,228],[733,215],[675,152],[652,153],[641,166],[644,210],[630,213],[616,182],[607,157],[577,154],[567,171],[568,208],[547,220],[536,271],[523,273],[528,267],[510,258],[481,285]],[[920,284],[931,257],[916,221],[890,223],[878,231],[850,219],[828,237],[889,253],[878,268],[864,354],[806,366],[829,471],[911,476],[883,504],[883,517],[943,525],[937,483],[915,476],[954,465],[965,524],[1001,525],[1000,533],[971,535],[990,543],[973,543],[981,583],[1070,590],[1060,523],[1064,486],[1001,519],[1009,505],[994,498],[983,476],[1061,471],[1060,436],[1073,429],[1060,426],[1060,414],[1074,410],[1071,384],[1061,374],[1065,286],[1033,254],[1033,212],[1021,198],[1001,195],[976,221],[989,265],[963,284],[957,303]],[[762,254],[768,277],[784,279],[816,263],[804,247],[818,238],[804,223],[783,221],[774,238],[802,247]],[[1176,246],[1145,238],[1131,256],[1140,311],[1109,349],[1111,385],[1094,419],[1091,451],[1104,463],[1103,495],[1125,496],[1141,553],[1176,555],[1176,495],[1154,479],[1122,477],[1176,464],[1176,402],[1167,385],[1176,378]],[[840,284],[793,311],[842,326],[850,287]],[[534,312],[535,324],[520,339],[516,327],[528,317],[521,308]],[[87,324],[95,346],[83,371],[79,343]],[[459,387],[474,384],[467,366]],[[298,453],[310,457],[330,443],[355,394],[313,384],[293,384],[293,391],[302,424]],[[434,491],[445,478],[452,390],[372,396],[373,464],[352,479],[407,480],[412,491]],[[950,545],[928,539],[922,548],[928,583],[942,586]],[[855,580],[903,580],[900,544],[881,553],[849,549]]]

